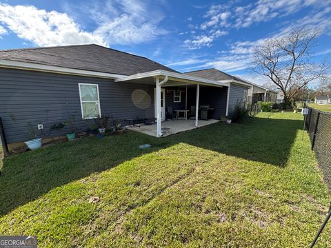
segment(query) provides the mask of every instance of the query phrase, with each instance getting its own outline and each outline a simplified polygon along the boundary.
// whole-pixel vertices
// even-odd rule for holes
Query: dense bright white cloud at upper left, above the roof
[[[46,12],[34,6],[0,4],[0,23],[16,33],[19,38],[37,45],[106,45],[102,37],[81,30],[67,14]]]

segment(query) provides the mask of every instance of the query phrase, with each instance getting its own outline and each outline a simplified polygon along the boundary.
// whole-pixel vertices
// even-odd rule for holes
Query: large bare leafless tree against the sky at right
[[[254,72],[267,76],[289,103],[308,83],[325,77],[325,63],[310,62],[310,49],[317,32],[294,28],[282,37],[265,40],[254,48]]]

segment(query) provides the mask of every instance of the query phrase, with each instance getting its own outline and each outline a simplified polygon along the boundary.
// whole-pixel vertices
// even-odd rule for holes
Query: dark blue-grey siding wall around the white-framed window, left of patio
[[[119,120],[137,116],[154,118],[153,85],[0,68],[0,116],[8,144],[28,140],[29,122],[35,130],[37,123],[42,123],[43,132],[48,134],[52,125],[65,122],[72,114],[75,115],[77,132],[86,131],[88,125],[81,116],[78,83],[99,85],[101,115],[108,114]],[[140,109],[132,102],[134,90],[148,92],[150,105],[146,109]],[[65,128],[52,132],[50,136],[38,134],[46,138],[62,136],[66,132]]]

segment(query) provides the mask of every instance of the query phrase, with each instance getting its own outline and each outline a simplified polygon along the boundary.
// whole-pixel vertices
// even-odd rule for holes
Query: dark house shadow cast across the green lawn
[[[0,216],[55,187],[177,143],[282,167],[301,125],[299,120],[252,118],[241,125],[216,123],[165,138],[138,132],[82,138],[10,156],[1,169]],[[152,148],[139,149],[144,143],[152,144]]]

